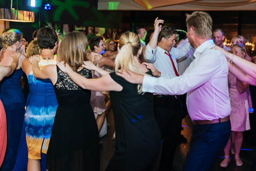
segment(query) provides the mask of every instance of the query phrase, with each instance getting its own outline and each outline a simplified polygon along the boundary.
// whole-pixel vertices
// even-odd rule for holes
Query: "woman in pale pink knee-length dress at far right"
[[[239,44],[232,46],[232,52],[243,59],[246,57],[245,47]],[[250,130],[249,122],[249,84],[237,79],[230,72],[228,73],[228,91],[231,104],[230,123],[231,131],[234,132],[234,160],[237,166],[242,166],[243,162],[240,159],[240,150],[243,143],[243,132]],[[227,167],[229,159],[229,151],[231,146],[231,138],[229,138],[227,145],[224,148],[225,159],[221,162],[221,167]]]

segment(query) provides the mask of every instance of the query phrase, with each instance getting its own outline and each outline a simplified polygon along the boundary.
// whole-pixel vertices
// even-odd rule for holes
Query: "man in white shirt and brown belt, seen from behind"
[[[187,108],[193,120],[193,135],[183,170],[212,170],[212,165],[223,151],[230,136],[226,57],[215,46],[212,36],[212,20],[208,13],[196,11],[187,15],[187,37],[196,51],[195,59],[179,77],[160,74],[160,78],[120,71],[117,75],[132,83],[142,84],[143,92],[160,94],[184,94],[187,92]]]

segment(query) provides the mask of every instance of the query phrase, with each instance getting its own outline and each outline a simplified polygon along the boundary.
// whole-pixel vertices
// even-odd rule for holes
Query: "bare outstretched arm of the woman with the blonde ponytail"
[[[100,78],[87,79],[78,73],[71,70],[71,68],[64,62],[57,63],[57,66],[62,72],[65,72],[69,77],[81,88],[93,90],[93,91],[121,91],[122,86],[116,83],[109,74],[104,75]],[[97,86],[95,86],[97,85]]]

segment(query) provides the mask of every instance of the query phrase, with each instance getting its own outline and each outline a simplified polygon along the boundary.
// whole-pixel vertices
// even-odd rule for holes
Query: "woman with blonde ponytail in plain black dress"
[[[123,33],[119,40],[115,71],[130,70],[140,75],[152,75],[139,62],[139,37],[132,32]],[[65,61],[58,64],[83,89],[110,91],[116,128],[115,154],[106,170],[152,170],[160,151],[161,134],[155,120],[153,94],[142,93],[142,87],[96,67],[102,76],[86,79],[70,69]],[[95,86],[97,85],[97,86]]]

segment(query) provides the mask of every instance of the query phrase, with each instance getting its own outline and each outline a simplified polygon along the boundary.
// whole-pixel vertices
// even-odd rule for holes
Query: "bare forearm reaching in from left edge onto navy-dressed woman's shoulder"
[[[14,54],[11,54],[11,57],[13,58],[13,61],[10,66],[0,66],[0,80],[2,80],[4,77],[11,75],[16,68],[18,67],[18,60],[20,57],[20,53],[15,52]]]

